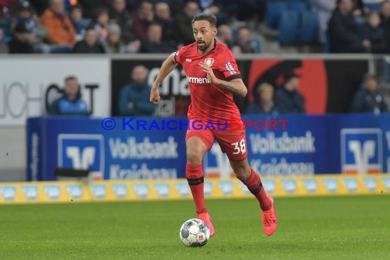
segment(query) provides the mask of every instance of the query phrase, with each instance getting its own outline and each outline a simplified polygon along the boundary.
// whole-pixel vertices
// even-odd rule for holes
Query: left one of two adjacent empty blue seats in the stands
[[[279,23],[278,42],[281,44],[297,43],[299,30],[299,12],[286,10],[282,12]]]

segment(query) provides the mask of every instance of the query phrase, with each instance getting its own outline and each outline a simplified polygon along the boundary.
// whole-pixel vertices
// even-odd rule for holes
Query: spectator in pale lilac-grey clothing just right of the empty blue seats
[[[335,1],[310,0],[311,9],[318,13],[318,38],[321,43],[326,42],[326,31],[332,12],[336,8]]]

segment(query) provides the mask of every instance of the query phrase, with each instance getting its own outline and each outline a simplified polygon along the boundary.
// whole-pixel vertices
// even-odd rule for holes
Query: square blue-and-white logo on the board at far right
[[[382,172],[382,130],[342,129],[341,166],[346,173]]]

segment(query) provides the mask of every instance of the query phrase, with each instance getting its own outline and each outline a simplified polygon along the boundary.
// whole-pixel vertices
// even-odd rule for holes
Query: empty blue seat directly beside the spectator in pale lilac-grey
[[[300,34],[298,41],[312,43],[318,40],[318,14],[313,11],[305,11],[300,17]]]

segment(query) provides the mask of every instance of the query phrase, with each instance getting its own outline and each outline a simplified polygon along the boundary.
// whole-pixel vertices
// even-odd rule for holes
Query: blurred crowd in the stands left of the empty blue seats
[[[255,53],[249,28],[233,31],[229,24],[242,8],[263,16],[257,3],[0,0],[0,53],[169,53],[194,41],[191,20],[198,12],[218,17],[220,38],[235,53]]]

